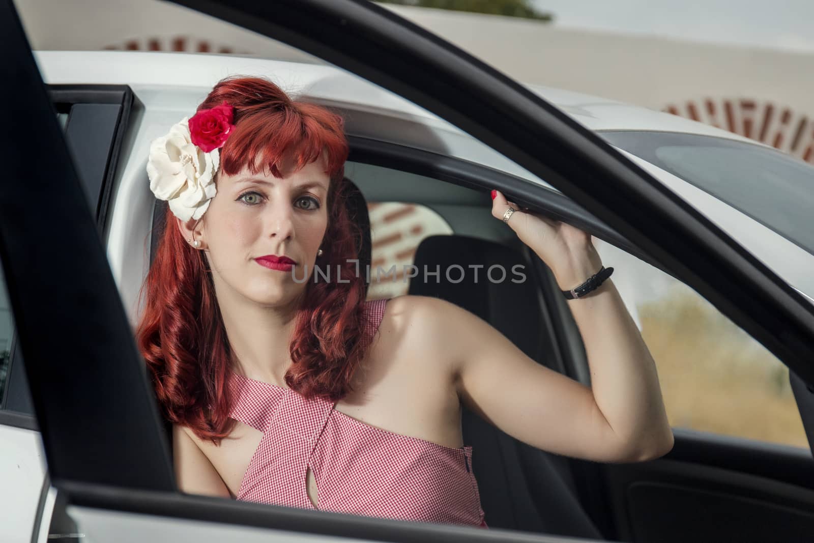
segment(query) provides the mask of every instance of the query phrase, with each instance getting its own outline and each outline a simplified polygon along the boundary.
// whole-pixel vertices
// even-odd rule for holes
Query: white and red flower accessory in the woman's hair
[[[184,117],[169,134],[150,144],[147,177],[155,198],[166,200],[182,221],[199,219],[217,190],[220,149],[234,129],[234,108],[227,103]]]

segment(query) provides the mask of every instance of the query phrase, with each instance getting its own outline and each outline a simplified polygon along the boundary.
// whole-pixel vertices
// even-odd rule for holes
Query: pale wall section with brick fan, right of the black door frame
[[[675,113],[814,163],[814,53],[393,9],[518,81]]]

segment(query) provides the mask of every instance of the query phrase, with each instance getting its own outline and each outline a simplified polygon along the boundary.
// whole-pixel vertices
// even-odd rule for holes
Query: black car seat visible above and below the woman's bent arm
[[[553,363],[558,355],[545,333],[542,283],[523,253],[484,239],[435,235],[418,245],[414,265],[419,274],[411,278],[409,294],[435,296],[474,313],[528,357],[559,370]],[[437,282],[435,275],[427,282],[418,280],[425,265],[431,271],[440,265]],[[466,270],[462,281],[451,282],[446,277],[444,270],[451,265]],[[477,279],[470,265],[483,266]],[[505,269],[505,280],[489,280],[487,271],[492,265]],[[519,278],[512,273],[515,265],[523,266],[527,277],[522,282],[511,280]],[[456,270],[450,275],[457,280],[461,273]],[[492,277],[500,279],[499,270]],[[466,406],[462,430],[464,443],[472,445],[473,471],[489,527],[602,539],[580,505],[568,458],[515,440]]]

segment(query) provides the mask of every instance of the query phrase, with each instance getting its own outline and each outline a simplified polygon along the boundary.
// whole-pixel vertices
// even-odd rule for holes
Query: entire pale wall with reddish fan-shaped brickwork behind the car
[[[38,50],[182,50],[320,62],[282,43],[167,2],[15,0],[15,5]],[[814,162],[814,53],[383,6],[518,81],[672,112]],[[88,13],[94,13],[95,19],[88,20]],[[195,33],[186,32],[189,28],[195,28]]]

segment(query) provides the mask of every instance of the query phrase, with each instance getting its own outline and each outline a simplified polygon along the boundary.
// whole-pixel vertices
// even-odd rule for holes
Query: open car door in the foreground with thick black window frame
[[[274,35],[452,121],[618,230],[806,383],[814,382],[814,315],[802,296],[643,170],[492,68],[366,2],[179,3]],[[2,9],[11,52],[2,69],[7,81],[19,82],[2,90],[6,103],[15,105],[9,112],[15,129],[2,135],[2,156],[8,178],[17,182],[0,189],[0,259],[48,468],[72,519],[119,541],[169,541],[173,532],[204,541],[280,531],[300,539],[310,533],[376,541],[510,537],[175,491],[155,405],[77,173],[11,2]],[[20,145],[35,139],[40,147]],[[37,160],[37,149],[46,149],[48,160]],[[514,195],[542,205],[533,190]],[[20,202],[32,197],[36,211],[23,212]]]

